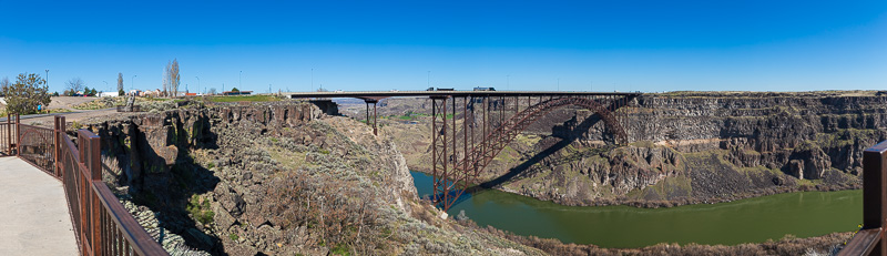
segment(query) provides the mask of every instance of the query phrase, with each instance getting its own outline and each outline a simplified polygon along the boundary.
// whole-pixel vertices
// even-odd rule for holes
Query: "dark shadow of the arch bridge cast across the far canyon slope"
[[[573,119],[575,119],[575,116]],[[532,157],[528,158],[527,161],[523,161],[523,163],[520,163],[518,166],[514,166],[513,168],[510,168],[508,171],[508,173],[506,173],[506,174],[503,174],[503,175],[501,175],[499,177],[496,177],[493,180],[490,180],[490,181],[487,181],[487,182],[483,182],[483,183],[480,183],[480,184],[476,184],[476,185],[469,186],[465,192],[467,192],[469,194],[473,194],[473,193],[478,193],[478,192],[496,188],[496,187],[498,187],[498,186],[511,181],[514,177],[521,177],[521,176],[526,177],[526,176],[530,176],[530,175],[532,175],[534,173],[538,173],[539,171],[541,171],[541,168],[532,168],[532,166],[534,166],[534,165],[537,165],[539,163],[542,163],[549,156],[554,155],[559,151],[565,149],[567,146],[569,146],[570,144],[572,144],[573,142],[575,142],[580,137],[582,137],[582,133],[588,132],[592,126],[594,126],[595,124],[598,124],[601,121],[603,121],[601,119],[601,116],[599,114],[594,113],[594,114],[588,116],[581,123],[579,123],[575,126],[573,126],[572,129],[569,129],[568,131],[560,132],[560,133],[555,132],[555,131],[552,131],[553,136],[560,139],[560,141],[555,142],[554,144],[551,144],[550,146],[548,146],[544,150],[542,150],[541,152],[534,154]],[[608,134],[608,133],[604,133],[604,134]],[[612,137],[610,137],[610,139],[612,140]],[[569,163],[569,162],[572,162],[572,161],[575,161],[575,160],[580,160],[580,158],[583,158],[583,157],[587,157],[587,156],[592,156],[592,155],[598,154],[598,153],[600,153],[600,151],[592,151],[591,154],[589,154],[588,152],[587,153],[580,153],[580,154],[572,154],[572,155],[569,155],[569,156],[564,156],[564,157],[561,157],[561,158],[553,160],[552,162],[550,162],[550,164],[552,166],[558,166],[560,164]],[[451,196],[457,196],[458,195],[458,191],[451,191],[450,195]],[[440,196],[442,196],[442,195],[440,195]],[[467,201],[469,198],[471,198],[471,196],[465,196],[465,194],[462,194],[461,196],[459,196],[456,199],[453,205],[462,203],[463,201]]]

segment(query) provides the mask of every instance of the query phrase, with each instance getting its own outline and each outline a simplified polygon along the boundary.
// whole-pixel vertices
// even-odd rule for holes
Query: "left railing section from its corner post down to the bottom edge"
[[[57,164],[81,255],[169,255],[102,182],[100,137],[78,131],[78,143],[55,116]]]

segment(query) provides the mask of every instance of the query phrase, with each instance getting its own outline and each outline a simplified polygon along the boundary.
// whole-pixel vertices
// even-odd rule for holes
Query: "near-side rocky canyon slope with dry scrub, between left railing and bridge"
[[[307,103],[88,126],[102,136],[105,182],[173,254],[540,254],[436,217],[396,144]]]

